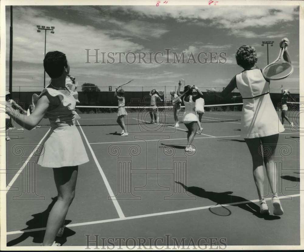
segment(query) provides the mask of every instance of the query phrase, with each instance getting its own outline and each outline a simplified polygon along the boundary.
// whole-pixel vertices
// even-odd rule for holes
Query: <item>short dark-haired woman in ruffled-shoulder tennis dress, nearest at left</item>
[[[79,102],[78,93],[65,86],[65,79],[70,72],[65,54],[48,52],[43,66],[51,80],[39,96],[33,95],[35,110],[27,117],[17,113],[11,115],[16,123],[24,125],[27,130],[34,128],[42,118],[50,120],[50,132],[43,142],[38,164],[53,168],[58,199],[50,211],[42,245],[58,246],[55,237],[58,233],[62,234],[65,216],[75,197],[78,165],[89,159],[75,124],[79,118],[75,112],[76,102]]]

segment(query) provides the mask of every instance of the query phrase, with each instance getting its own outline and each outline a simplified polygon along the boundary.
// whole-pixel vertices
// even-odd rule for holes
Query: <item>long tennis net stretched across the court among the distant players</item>
[[[240,117],[243,103],[205,105],[205,114],[212,113],[210,117],[216,117],[214,113],[221,117],[227,115],[233,118],[233,115]],[[125,107],[128,115],[125,116],[125,124],[145,124],[151,122],[150,112],[154,111],[151,106],[128,106]],[[108,106],[76,106],[76,112],[81,117],[78,120],[81,126],[85,125],[116,125],[118,107]],[[181,106],[178,114],[179,121],[182,121],[185,107]],[[158,122],[163,124],[174,124],[174,108],[173,106],[158,106],[155,111],[158,117]],[[223,118],[227,119],[227,118]],[[48,119],[42,119],[39,125],[50,125]]]

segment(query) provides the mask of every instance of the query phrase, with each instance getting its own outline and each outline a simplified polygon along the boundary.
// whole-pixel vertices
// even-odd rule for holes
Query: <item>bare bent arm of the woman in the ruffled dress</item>
[[[50,101],[47,96],[43,95],[37,101],[35,106],[35,110],[29,116],[20,115],[16,110],[11,110],[7,108],[6,112],[13,118],[13,120],[26,128],[27,130],[31,130],[36,127],[41,119],[44,117],[47,112],[48,107],[50,106]]]

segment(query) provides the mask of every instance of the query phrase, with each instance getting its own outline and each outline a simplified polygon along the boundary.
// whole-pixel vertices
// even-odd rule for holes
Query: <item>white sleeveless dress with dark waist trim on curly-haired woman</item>
[[[245,70],[236,75],[237,89],[243,98],[241,133],[244,138],[275,135],[285,129],[269,95],[269,82],[261,69]]]

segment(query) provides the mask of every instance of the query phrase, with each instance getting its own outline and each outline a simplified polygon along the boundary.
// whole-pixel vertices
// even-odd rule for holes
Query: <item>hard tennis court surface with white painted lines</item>
[[[110,114],[104,121],[110,120]],[[169,114],[164,110],[160,118],[168,119]],[[127,126],[127,137],[120,136],[120,127],[112,122],[78,126],[90,161],[79,166],[67,226],[63,237],[56,238],[62,246],[85,247],[86,239],[95,240],[96,235],[98,239],[133,238],[136,245],[150,244],[151,238],[158,246],[177,246],[175,241],[179,244],[183,238],[186,247],[190,239],[196,244],[206,238],[201,244],[210,245],[212,237],[216,246],[300,244],[298,117],[292,118],[294,128],[285,125],[276,151],[284,215],[272,215],[271,194],[265,188],[270,209],[266,217],[258,214],[239,109],[206,111],[204,130],[193,141],[194,153],[184,151],[184,124],[174,128],[171,119],[149,124],[137,112],[129,113],[130,117],[136,123]],[[48,129],[9,133],[7,246],[39,246],[43,240],[57,191],[52,169],[36,166],[35,155],[30,155]],[[127,245],[132,247],[134,240],[129,239]],[[94,243],[90,246],[95,248]]]

